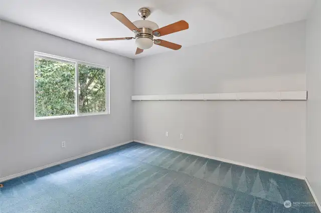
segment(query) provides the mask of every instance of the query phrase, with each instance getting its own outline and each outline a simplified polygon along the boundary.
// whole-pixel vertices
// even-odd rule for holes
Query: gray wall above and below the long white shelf
[[[134,64],[136,95],[306,90],[305,21]],[[135,101],[134,139],[305,175],[305,119],[304,101]]]

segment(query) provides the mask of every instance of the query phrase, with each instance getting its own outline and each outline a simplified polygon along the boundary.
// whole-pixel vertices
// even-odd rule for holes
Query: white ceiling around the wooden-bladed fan
[[[0,18],[94,46],[130,58],[165,51],[153,45],[135,55],[135,41],[96,41],[101,37],[133,36],[110,15],[141,19],[140,7],[149,7],[148,20],[159,27],[186,20],[190,28],[161,37],[183,47],[305,19],[314,0],[0,0]],[[178,50],[179,51],[179,50]]]

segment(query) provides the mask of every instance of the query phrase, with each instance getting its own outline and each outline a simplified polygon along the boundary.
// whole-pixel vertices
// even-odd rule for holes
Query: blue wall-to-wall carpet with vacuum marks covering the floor
[[[319,212],[303,180],[136,142],[4,185],[1,213]]]

